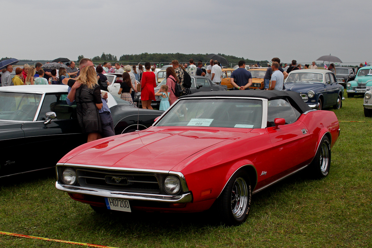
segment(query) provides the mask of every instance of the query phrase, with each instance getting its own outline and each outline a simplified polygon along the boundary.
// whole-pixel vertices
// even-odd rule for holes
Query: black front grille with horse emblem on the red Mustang
[[[138,193],[160,193],[156,175],[128,171],[106,171],[79,168],[78,183],[82,187]]]

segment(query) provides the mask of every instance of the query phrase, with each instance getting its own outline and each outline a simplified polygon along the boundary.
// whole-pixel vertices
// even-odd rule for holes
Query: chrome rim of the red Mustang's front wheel
[[[248,203],[248,189],[247,183],[244,178],[239,177],[235,180],[234,186],[231,190],[231,210],[232,214],[239,218],[241,217],[247,208]]]

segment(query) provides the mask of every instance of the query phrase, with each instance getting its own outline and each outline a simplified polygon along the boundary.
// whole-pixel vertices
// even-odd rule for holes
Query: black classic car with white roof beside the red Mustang
[[[76,104],[66,103],[68,86],[0,87],[0,178],[54,167],[67,152],[86,142]],[[115,133],[143,130],[163,112],[138,109],[109,94]]]

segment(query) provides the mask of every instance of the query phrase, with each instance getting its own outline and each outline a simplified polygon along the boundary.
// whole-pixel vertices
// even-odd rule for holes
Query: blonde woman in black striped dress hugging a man
[[[82,68],[76,81],[81,83],[75,94],[77,120],[81,131],[88,134],[87,142],[94,141],[101,138],[99,133],[102,132],[102,125],[98,110],[103,106],[96,70],[92,66]],[[70,86],[74,83],[75,79],[69,79],[67,84]]]

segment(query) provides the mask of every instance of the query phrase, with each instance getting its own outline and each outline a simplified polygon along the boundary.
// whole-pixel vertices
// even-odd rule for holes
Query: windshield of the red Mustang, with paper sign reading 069
[[[252,99],[180,100],[156,126],[261,128],[262,101]]]

